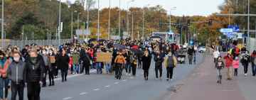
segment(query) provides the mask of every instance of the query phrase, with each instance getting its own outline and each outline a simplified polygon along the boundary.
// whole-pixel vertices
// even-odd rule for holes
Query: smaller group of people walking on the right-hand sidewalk
[[[256,75],[256,50],[251,54],[244,48],[238,48],[237,45],[233,45],[223,57],[221,56],[218,49],[213,51],[213,58],[215,62],[215,67],[217,69],[217,83],[221,84],[222,74],[221,70],[227,69],[227,80],[232,80],[233,76],[238,77],[238,69],[240,65],[243,67],[243,72],[245,77],[248,75],[248,67],[251,63],[252,65],[252,76]],[[232,72],[234,70],[234,75]]]

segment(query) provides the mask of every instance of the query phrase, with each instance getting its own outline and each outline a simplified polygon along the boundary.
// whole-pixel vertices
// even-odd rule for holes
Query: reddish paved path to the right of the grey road
[[[178,82],[181,86],[165,99],[171,100],[245,100],[238,79],[227,81],[226,69],[222,70],[223,83],[217,84],[212,57],[206,57],[187,79]],[[241,75],[240,75],[241,76]],[[242,77],[242,76],[241,76]]]

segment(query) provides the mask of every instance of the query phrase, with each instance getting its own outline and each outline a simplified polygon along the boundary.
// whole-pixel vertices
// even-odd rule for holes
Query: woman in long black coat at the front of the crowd
[[[149,67],[151,65],[151,56],[149,52],[146,50],[144,55],[142,56],[142,69],[144,70],[144,79],[149,79]]]

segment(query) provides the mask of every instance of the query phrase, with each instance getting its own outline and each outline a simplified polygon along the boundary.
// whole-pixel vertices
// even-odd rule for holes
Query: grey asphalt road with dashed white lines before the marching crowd
[[[198,55],[197,63],[203,61]],[[55,81],[54,87],[41,89],[42,100],[151,100],[158,99],[178,80],[184,79],[197,65],[178,65],[174,70],[174,79],[166,82],[166,69],[163,79],[156,80],[154,62],[149,70],[149,80],[145,81],[143,71],[137,69],[136,77],[123,75],[121,80],[114,79],[113,74],[75,74],[68,77],[68,82]],[[24,99],[26,99],[26,89]]]

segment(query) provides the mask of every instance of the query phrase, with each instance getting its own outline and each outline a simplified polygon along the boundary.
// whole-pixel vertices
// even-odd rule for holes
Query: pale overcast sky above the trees
[[[67,0],[63,0],[67,1]],[[75,0],[69,0],[74,2]],[[97,1],[95,0],[95,8]],[[100,9],[109,7],[110,0],[99,0]],[[127,4],[131,0],[121,0],[121,8],[127,9]],[[223,4],[224,0],[134,0],[129,3],[130,7],[143,6],[163,6],[166,11],[174,16],[208,16],[211,13],[219,12],[218,6]],[[119,6],[119,0],[111,0],[111,6]],[[176,7],[175,10],[169,10]]]

